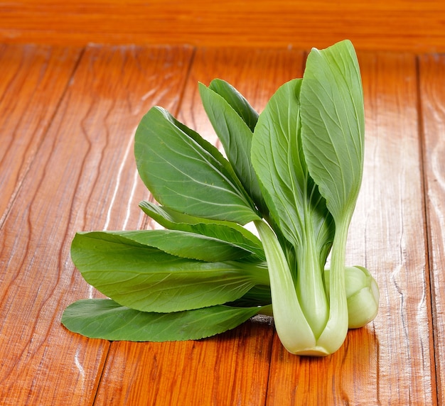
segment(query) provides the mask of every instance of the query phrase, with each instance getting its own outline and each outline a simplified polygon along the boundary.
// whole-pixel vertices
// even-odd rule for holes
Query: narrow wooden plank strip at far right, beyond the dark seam
[[[439,404],[445,404],[445,57],[419,57],[423,162]]]

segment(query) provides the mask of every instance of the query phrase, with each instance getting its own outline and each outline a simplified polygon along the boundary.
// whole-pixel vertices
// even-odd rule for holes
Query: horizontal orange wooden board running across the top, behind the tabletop
[[[367,50],[445,50],[443,1],[0,2],[0,40],[309,48],[349,38]]]

